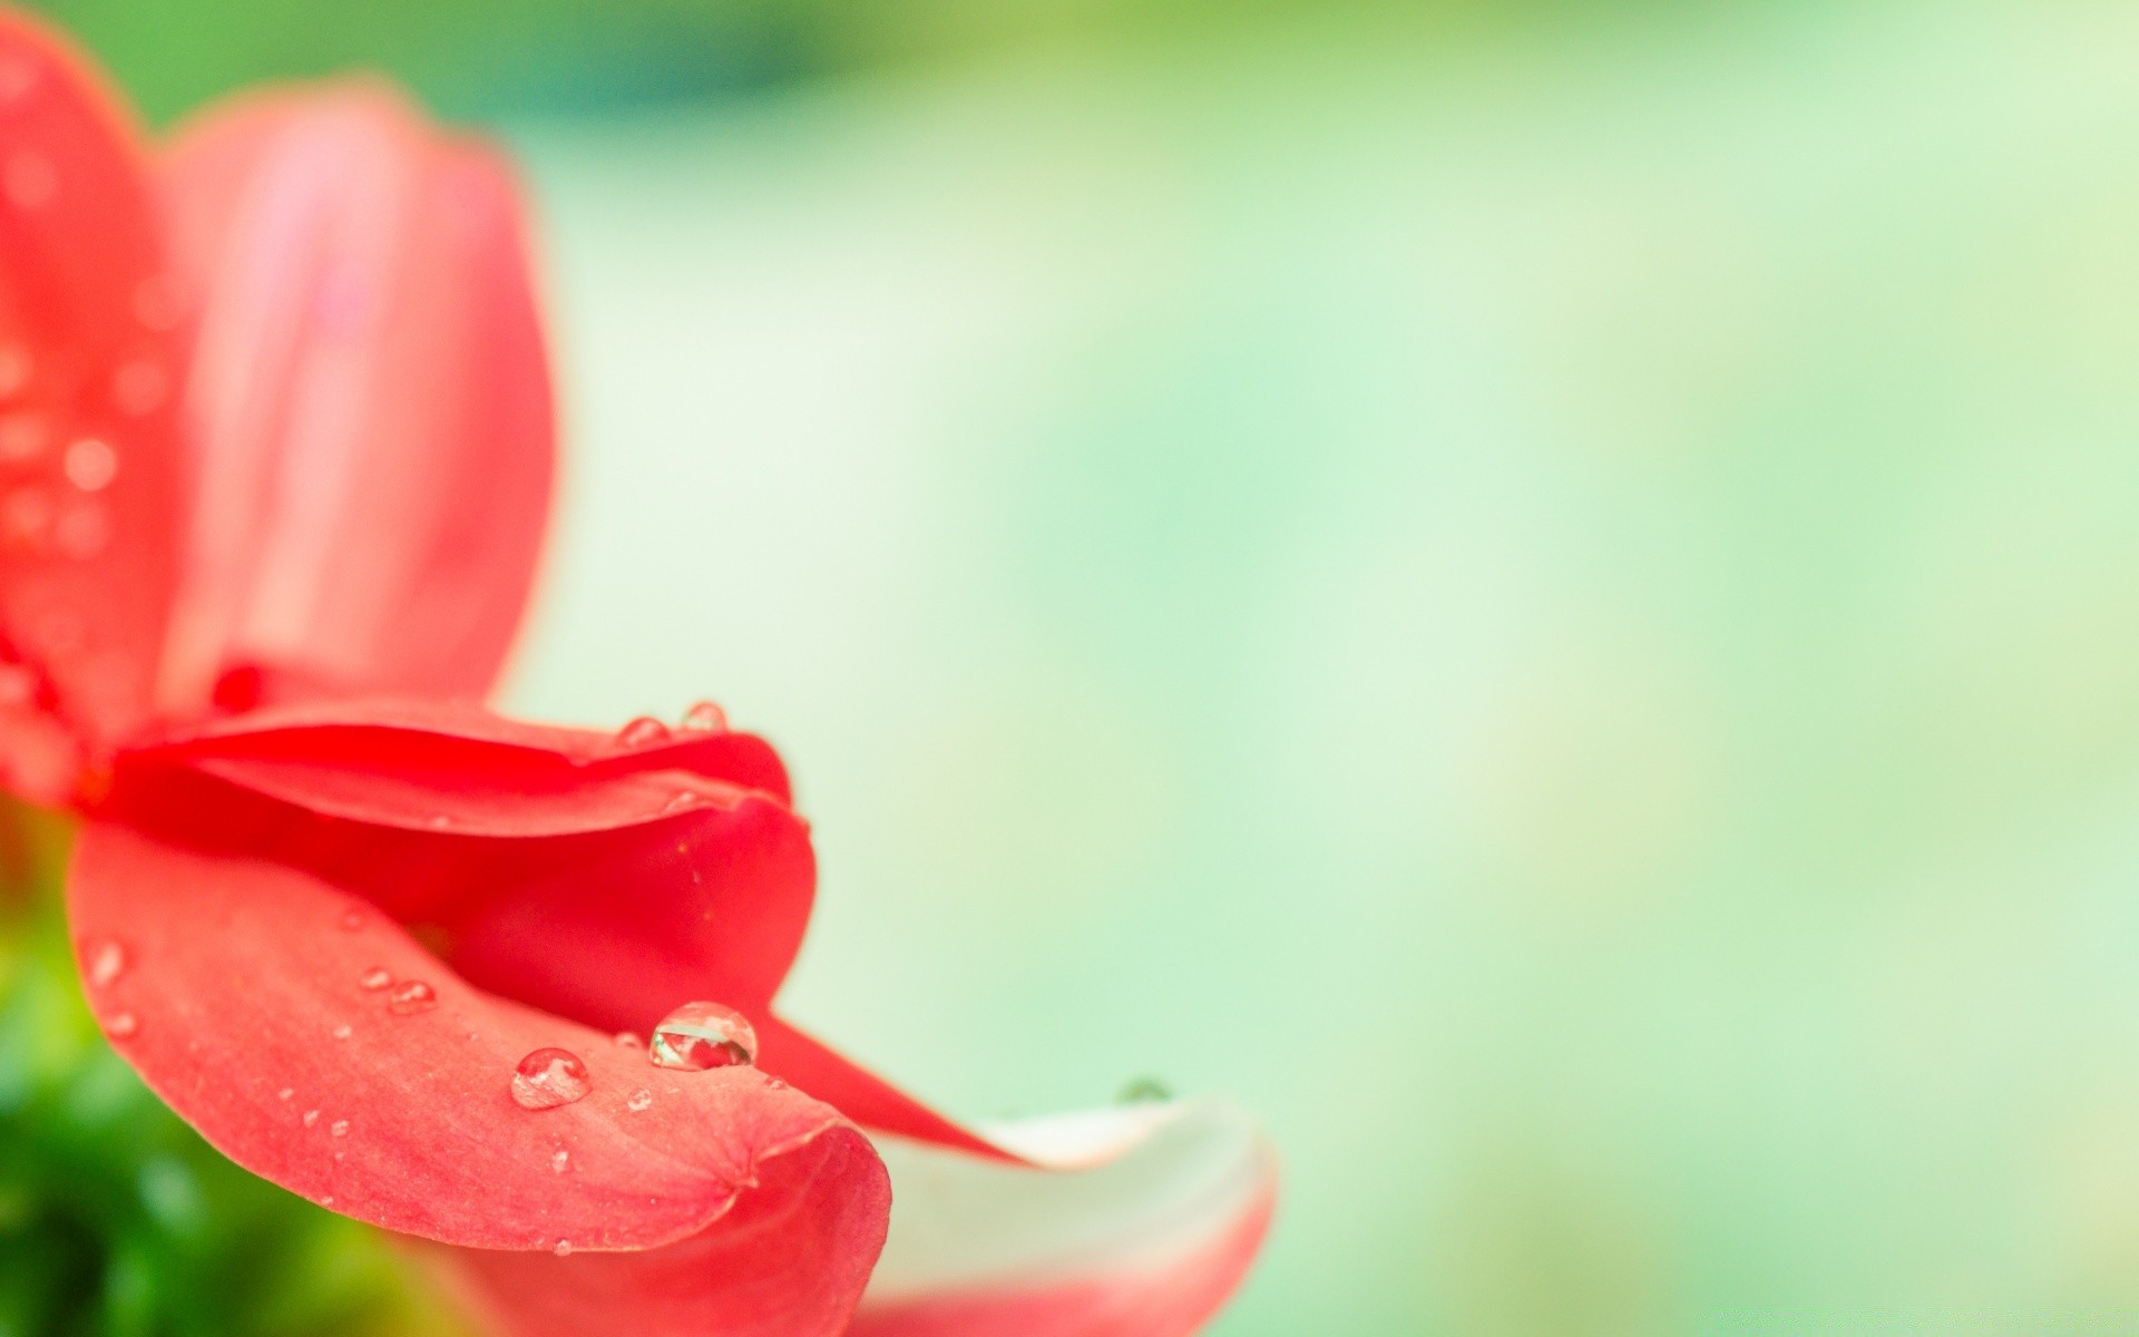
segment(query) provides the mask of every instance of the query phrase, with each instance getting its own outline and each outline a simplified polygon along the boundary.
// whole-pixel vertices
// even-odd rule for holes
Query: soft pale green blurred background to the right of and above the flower
[[[804,1023],[1224,1091],[1224,1337],[2139,1331],[2139,13],[66,0],[520,154],[507,702],[699,695]]]

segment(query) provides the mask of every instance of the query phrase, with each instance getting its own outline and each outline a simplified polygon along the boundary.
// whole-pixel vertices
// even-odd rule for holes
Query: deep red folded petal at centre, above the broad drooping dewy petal
[[[744,734],[627,747],[374,704],[126,753],[105,811],[304,869],[419,926],[481,988],[644,1033],[691,999],[759,1014],[794,963],[815,858],[759,785],[785,777]]]

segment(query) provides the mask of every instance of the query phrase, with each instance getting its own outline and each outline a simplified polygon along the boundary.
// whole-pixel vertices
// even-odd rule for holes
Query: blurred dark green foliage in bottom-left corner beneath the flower
[[[0,1337],[443,1337],[368,1226],[255,1179],[81,1001],[53,824],[0,815]]]

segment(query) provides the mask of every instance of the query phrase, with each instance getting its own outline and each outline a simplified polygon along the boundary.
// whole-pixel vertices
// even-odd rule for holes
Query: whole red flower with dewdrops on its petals
[[[1194,1328],[1268,1219],[1236,1115],[943,1121],[772,1012],[815,862],[764,742],[443,704],[518,623],[550,449],[488,152],[342,88],[152,173],[0,15],[0,772],[86,815],[116,1048],[242,1166],[458,1245],[515,1333]],[[755,1065],[614,1038],[691,999]]]

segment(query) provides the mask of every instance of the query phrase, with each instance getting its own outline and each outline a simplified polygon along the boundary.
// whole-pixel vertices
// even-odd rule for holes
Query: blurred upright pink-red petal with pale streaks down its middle
[[[205,293],[163,700],[481,695],[550,503],[550,374],[509,171],[372,83],[265,94],[165,160]]]

